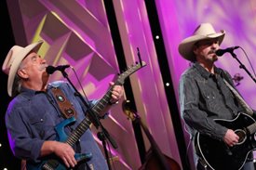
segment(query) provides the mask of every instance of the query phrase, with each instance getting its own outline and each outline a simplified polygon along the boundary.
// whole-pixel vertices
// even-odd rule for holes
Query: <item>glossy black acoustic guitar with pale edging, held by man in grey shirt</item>
[[[238,113],[233,120],[216,119],[218,124],[233,129],[239,137],[238,143],[227,146],[223,141],[200,133],[195,134],[195,149],[211,169],[239,170],[246,163],[249,152],[256,147],[255,120],[245,113]]]

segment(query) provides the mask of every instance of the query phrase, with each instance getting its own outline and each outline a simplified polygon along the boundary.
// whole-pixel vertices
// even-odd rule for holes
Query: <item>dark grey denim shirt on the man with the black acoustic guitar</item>
[[[179,98],[182,118],[192,136],[198,131],[222,140],[227,128],[215,123],[214,119],[234,119],[242,108],[223,82],[224,77],[233,85],[230,74],[217,67],[214,71],[215,74],[207,72],[195,62],[182,74]]]

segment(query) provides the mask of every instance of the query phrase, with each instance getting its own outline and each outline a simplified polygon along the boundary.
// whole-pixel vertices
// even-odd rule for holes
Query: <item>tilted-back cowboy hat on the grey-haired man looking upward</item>
[[[37,52],[43,41],[38,41],[26,47],[12,46],[2,66],[2,71],[8,75],[7,92],[12,97],[12,89],[15,75],[20,67],[21,61],[32,51]]]

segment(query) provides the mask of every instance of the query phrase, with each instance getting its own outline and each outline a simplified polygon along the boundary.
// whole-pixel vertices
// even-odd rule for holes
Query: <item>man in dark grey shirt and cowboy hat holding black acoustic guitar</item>
[[[179,45],[182,58],[193,63],[180,79],[181,114],[194,140],[196,169],[254,169],[249,160],[252,148],[248,149],[249,142],[241,145],[242,137],[235,130],[240,127],[226,125],[246,111],[231,90],[236,88],[230,74],[214,65],[224,35],[202,23]],[[253,120],[248,114],[241,116]]]

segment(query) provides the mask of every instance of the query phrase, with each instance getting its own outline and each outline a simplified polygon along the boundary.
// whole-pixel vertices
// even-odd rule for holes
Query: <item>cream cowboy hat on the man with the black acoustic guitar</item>
[[[192,36],[187,37],[182,41],[179,45],[179,52],[184,59],[194,61],[195,54],[193,52],[193,47],[196,42],[219,37],[219,43],[221,45],[224,35],[225,31],[222,30],[220,33],[216,33],[210,23],[202,23],[195,29]]]

